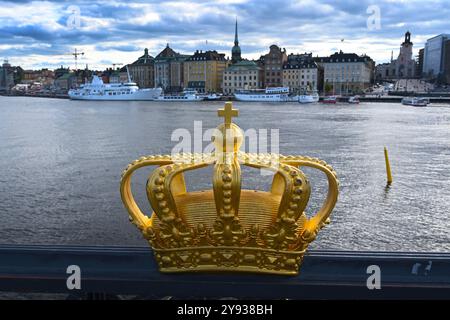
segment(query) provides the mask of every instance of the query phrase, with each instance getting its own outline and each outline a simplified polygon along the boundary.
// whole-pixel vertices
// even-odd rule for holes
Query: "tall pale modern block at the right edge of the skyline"
[[[445,81],[450,77],[450,34],[440,34],[428,39],[424,48],[423,76]],[[449,83],[449,81],[445,81]]]

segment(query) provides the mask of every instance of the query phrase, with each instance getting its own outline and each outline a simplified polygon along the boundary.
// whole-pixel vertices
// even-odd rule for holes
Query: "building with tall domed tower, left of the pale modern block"
[[[410,79],[417,75],[417,63],[413,58],[413,43],[411,33],[405,33],[405,39],[400,47],[397,59],[394,59],[391,52],[391,61],[379,64],[376,67],[377,80]]]

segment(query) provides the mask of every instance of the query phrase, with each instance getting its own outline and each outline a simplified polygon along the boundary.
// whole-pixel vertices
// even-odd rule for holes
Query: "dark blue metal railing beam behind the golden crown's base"
[[[448,299],[450,253],[310,250],[298,276],[164,274],[151,249],[106,246],[0,246],[0,291],[80,297],[237,299]],[[79,266],[81,289],[66,286]],[[371,267],[372,266],[372,267]],[[380,289],[369,289],[374,267]],[[375,267],[375,268],[376,268]],[[370,280],[369,280],[370,282]],[[195,288],[195,290],[192,290]],[[100,294],[100,295],[99,295]]]

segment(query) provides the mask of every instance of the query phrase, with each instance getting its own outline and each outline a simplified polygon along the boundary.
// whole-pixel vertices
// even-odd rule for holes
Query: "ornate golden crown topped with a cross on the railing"
[[[239,151],[243,134],[231,122],[238,110],[227,102],[218,113],[225,121],[212,137],[211,154],[147,156],[128,165],[120,192],[130,221],[149,241],[161,272],[296,275],[336,204],[336,174],[316,158]],[[271,190],[241,190],[241,165],[271,170]],[[146,188],[151,217],[142,213],[131,191],[133,172],[145,166],[158,166]],[[213,166],[213,189],[187,192],[183,173],[206,166]],[[304,210],[311,189],[299,167],[318,169],[328,178],[327,198],[310,219]]]

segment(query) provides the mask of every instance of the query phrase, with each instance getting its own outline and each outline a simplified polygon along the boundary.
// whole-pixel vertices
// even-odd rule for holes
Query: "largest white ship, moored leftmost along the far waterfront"
[[[155,100],[161,92],[161,88],[139,89],[128,74],[126,83],[103,83],[100,77],[94,75],[91,83],[71,89],[68,94],[72,100],[147,101]]]

